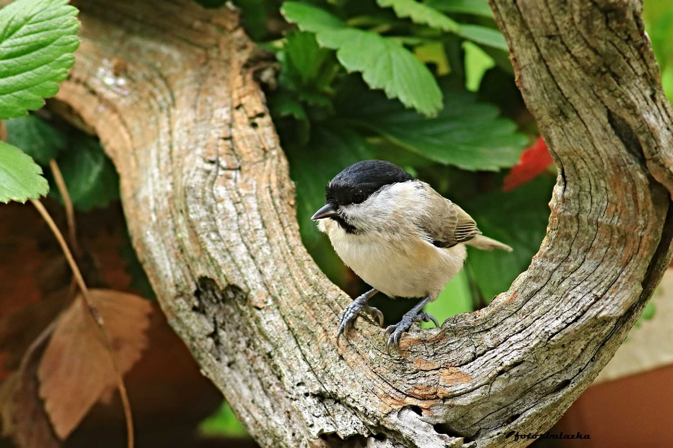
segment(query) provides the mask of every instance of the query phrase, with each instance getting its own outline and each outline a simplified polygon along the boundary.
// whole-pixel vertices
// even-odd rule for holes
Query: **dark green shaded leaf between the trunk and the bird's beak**
[[[357,132],[341,126],[314,126],[306,146],[284,147],[297,191],[297,221],[302,242],[320,269],[343,285],[345,265],[311,216],[325,204],[325,186],[355,162],[372,158],[369,144]]]

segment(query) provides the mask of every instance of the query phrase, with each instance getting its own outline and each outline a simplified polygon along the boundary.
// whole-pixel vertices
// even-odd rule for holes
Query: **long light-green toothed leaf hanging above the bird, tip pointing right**
[[[383,89],[426,116],[441,109],[441,91],[432,73],[394,40],[349,28],[324,9],[304,3],[286,1],[281,12],[299,29],[316,33],[318,44],[336,50],[345,69],[361,72],[371,88]]]

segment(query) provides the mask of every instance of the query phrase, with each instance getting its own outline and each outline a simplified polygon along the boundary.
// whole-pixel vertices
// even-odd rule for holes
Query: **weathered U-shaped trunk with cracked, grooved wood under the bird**
[[[100,136],[173,328],[264,447],[518,447],[625,338],[671,258],[672,109],[637,1],[491,0],[560,174],[528,271],[390,357],[306,253],[229,9],[102,1],[58,99]],[[123,79],[124,81],[119,81]],[[345,439],[345,441],[341,441]]]

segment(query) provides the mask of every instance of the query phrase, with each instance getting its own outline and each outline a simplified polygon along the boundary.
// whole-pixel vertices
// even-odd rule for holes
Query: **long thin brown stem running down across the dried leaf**
[[[46,221],[47,225],[51,229],[51,231],[54,233],[54,236],[56,236],[56,239],[59,241],[59,244],[61,244],[61,249],[63,250],[63,255],[65,255],[65,258],[67,259],[70,268],[73,271],[73,275],[75,276],[75,279],[77,280],[77,284],[79,285],[79,289],[81,289],[81,298],[83,301],[83,304],[86,305],[87,311],[89,312],[90,316],[92,316],[94,323],[96,324],[96,328],[98,328],[100,332],[100,336],[103,342],[103,345],[107,349],[108,353],[110,353],[110,359],[112,359],[112,367],[114,368],[114,373],[116,373],[116,379],[117,379],[117,385],[119,388],[119,395],[122,400],[122,406],[124,408],[124,416],[126,419],[126,424],[127,424],[127,446],[128,448],[133,448],[133,416],[131,414],[131,403],[129,402],[129,396],[127,394],[126,386],[124,386],[124,379],[122,378],[122,374],[119,370],[119,366],[117,365],[116,359],[114,359],[113,351],[112,351],[112,345],[110,344],[110,338],[108,337],[108,333],[105,331],[105,328],[103,326],[103,319],[102,316],[100,316],[100,313],[98,312],[98,308],[94,305],[94,303],[91,300],[91,297],[89,296],[89,289],[87,289],[86,284],[84,283],[84,278],[81,275],[81,272],[79,271],[79,268],[77,267],[77,263],[75,263],[75,259],[73,258],[72,253],[70,252],[70,249],[68,249],[68,245],[65,242],[65,238],[63,238],[63,234],[59,231],[59,228],[56,226],[54,220],[52,220],[51,216],[49,216],[49,212],[46,211],[44,206],[40,201],[36,201],[35,199],[31,199],[31,202],[35,206],[35,208],[40,212],[40,215],[42,215],[42,218]]]

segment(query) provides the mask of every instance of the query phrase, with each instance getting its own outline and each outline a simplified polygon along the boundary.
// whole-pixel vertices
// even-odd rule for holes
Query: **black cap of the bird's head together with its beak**
[[[311,219],[335,218],[339,221],[339,206],[360,204],[385,185],[413,181],[415,178],[386,161],[361,161],[354,163],[327,184],[325,206]]]

